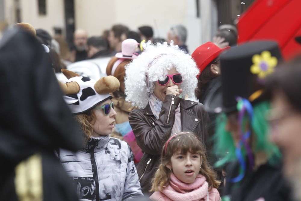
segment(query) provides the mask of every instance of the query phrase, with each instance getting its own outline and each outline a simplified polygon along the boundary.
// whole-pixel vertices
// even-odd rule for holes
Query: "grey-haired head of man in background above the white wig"
[[[185,50],[188,53],[188,49],[186,46],[186,38],[187,38],[187,30],[181,25],[172,26],[167,33],[167,42],[170,43],[173,41],[174,45],[178,45],[180,49]]]

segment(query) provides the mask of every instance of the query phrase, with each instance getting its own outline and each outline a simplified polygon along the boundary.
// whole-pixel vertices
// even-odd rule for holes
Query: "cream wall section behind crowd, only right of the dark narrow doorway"
[[[75,20],[75,27],[87,30],[89,36],[122,23],[134,31],[150,25],[155,37],[166,38],[172,25],[183,24],[188,29],[189,52],[201,44],[201,19],[196,17],[195,0],[75,0]]]

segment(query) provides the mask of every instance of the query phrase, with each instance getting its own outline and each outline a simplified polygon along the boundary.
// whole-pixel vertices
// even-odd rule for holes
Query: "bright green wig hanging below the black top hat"
[[[271,143],[268,139],[270,126],[265,119],[266,112],[270,109],[270,104],[267,101],[260,102],[253,107],[253,120],[247,114],[244,115],[243,125],[251,125],[251,135],[255,138],[252,144],[253,154],[257,152],[265,152],[268,158],[268,163],[271,165],[277,164],[281,159],[281,153],[278,147]],[[249,123],[250,122],[250,123]],[[221,167],[228,162],[236,160],[235,144],[231,137],[231,133],[225,130],[227,123],[226,114],[222,113],[216,118],[216,132],[214,134],[214,152],[217,155],[218,161],[215,163],[216,167]],[[252,137],[251,137],[252,139]],[[241,152],[246,158],[246,148],[241,146]]]

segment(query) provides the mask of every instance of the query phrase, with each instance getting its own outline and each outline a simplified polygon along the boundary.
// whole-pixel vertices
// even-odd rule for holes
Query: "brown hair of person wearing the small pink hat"
[[[109,61],[106,69],[107,75],[111,75],[113,65],[119,58],[117,57],[112,57],[112,59]],[[126,76],[126,69],[124,68],[126,64],[129,64],[132,60],[125,59],[122,61],[116,68],[114,74],[112,76],[116,77],[119,82],[120,82],[120,87],[119,90],[121,90],[124,93],[124,76]]]

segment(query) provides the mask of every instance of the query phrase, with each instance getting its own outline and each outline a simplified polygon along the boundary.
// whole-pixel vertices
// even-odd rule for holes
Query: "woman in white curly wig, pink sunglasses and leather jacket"
[[[143,47],[144,52],[126,66],[125,93],[126,100],[139,107],[129,114],[129,122],[144,152],[137,172],[145,195],[166,140],[188,131],[206,143],[210,120],[201,103],[180,98],[194,97],[197,86],[199,71],[191,56],[173,43],[148,41]]]

